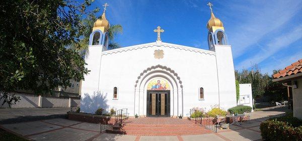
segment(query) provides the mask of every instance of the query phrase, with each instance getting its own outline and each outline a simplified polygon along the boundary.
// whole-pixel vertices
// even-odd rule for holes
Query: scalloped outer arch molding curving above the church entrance
[[[137,87],[137,83],[139,82],[139,80],[141,78],[143,79],[145,76],[147,76],[147,75],[144,76],[144,74],[147,74],[148,72],[151,72],[151,71],[156,72],[156,69],[158,69],[158,68],[166,70],[166,72],[170,72],[170,74],[169,74],[169,73],[166,73],[165,71],[160,71],[162,73],[166,73],[167,75],[170,75],[170,76],[173,74],[173,76],[171,76],[171,78],[175,77],[178,80],[178,83],[180,84],[180,88],[183,88],[182,81],[180,80],[180,77],[178,76],[178,74],[173,69],[171,69],[167,66],[162,66],[162,65],[156,65],[156,66],[148,67],[147,69],[143,70],[139,74],[139,76],[137,77],[137,80],[135,81],[134,87],[135,88]],[[142,77],[142,76],[144,76],[144,77]],[[177,83],[176,79],[174,79],[175,83]]]

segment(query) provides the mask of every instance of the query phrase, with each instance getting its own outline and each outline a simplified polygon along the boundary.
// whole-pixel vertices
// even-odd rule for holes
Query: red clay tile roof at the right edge
[[[302,72],[302,59],[285,67],[283,70],[280,70],[278,73],[274,74],[273,77],[281,78],[281,77],[290,76],[290,75],[301,73],[301,72]]]

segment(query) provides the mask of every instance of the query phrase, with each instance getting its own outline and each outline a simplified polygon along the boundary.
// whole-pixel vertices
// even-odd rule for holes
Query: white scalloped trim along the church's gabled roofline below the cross
[[[163,43],[164,44],[164,43]],[[110,54],[116,54],[116,53],[122,53],[122,52],[127,52],[127,51],[132,51],[132,50],[138,50],[138,49],[144,49],[144,48],[152,48],[154,46],[157,45],[149,45],[149,46],[142,46],[142,47],[133,47],[133,48],[128,48],[128,49],[122,49],[122,50],[110,50],[107,52],[103,52],[103,55],[110,55]],[[183,47],[176,47],[176,46],[170,46],[170,45],[162,45],[163,47],[167,47],[167,48],[173,48],[173,49],[179,49],[179,50],[184,50],[184,51],[190,51],[190,52],[195,52],[195,53],[200,53],[200,54],[204,54],[204,55],[213,55],[216,56],[215,53],[207,53],[207,52],[203,52],[203,51],[199,51],[199,50],[194,50],[194,49],[189,49],[189,48],[183,48]]]

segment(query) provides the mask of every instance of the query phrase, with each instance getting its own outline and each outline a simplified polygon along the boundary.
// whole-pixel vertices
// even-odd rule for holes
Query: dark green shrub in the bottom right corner
[[[268,119],[260,124],[261,136],[265,140],[301,140],[302,126],[292,127],[291,124],[277,119]]]

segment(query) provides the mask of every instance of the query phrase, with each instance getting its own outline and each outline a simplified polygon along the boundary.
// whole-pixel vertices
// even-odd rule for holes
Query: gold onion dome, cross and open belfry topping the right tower
[[[212,9],[212,4],[207,4],[211,10],[211,18],[208,21],[206,28],[208,31],[208,46],[212,50],[214,45],[228,45],[228,38],[226,38],[222,22],[215,17]]]

